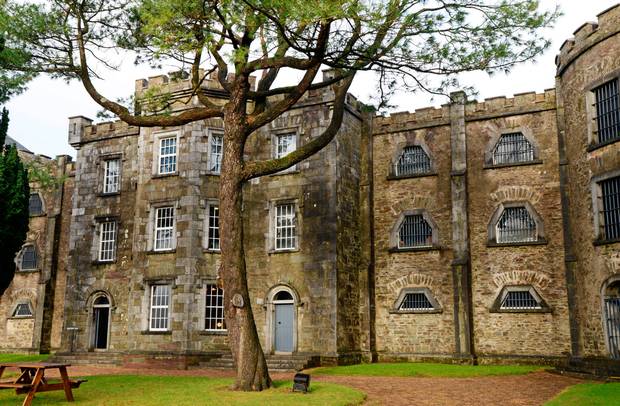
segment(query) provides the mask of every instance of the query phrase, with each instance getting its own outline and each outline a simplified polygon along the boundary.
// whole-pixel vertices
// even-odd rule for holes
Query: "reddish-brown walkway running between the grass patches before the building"
[[[232,371],[216,369],[170,370],[82,366],[69,368],[71,377],[90,375],[168,375],[231,377]],[[275,373],[273,379],[291,379],[293,373]],[[583,382],[548,372],[478,378],[395,378],[313,376],[313,381],[351,386],[367,394],[366,405],[542,405],[564,388]]]

